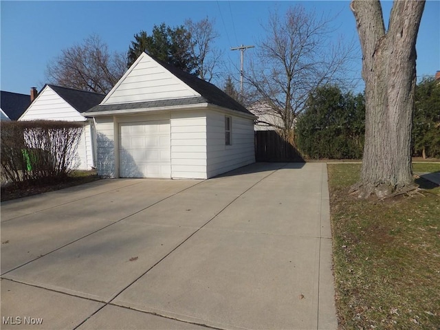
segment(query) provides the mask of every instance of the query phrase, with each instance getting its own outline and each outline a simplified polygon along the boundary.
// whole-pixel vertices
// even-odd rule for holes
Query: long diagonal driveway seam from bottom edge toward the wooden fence
[[[118,292],[117,294],[115,294],[112,298],[109,299],[108,303],[106,303],[104,306],[100,307],[100,309],[98,309],[97,311],[95,311],[93,314],[91,314],[88,318],[86,318],[85,320],[83,320],[83,322],[80,322],[79,325],[77,325],[74,330],[78,329],[78,327],[80,327],[81,325],[83,325],[85,322],[87,322],[87,320],[89,320],[89,318],[91,318],[92,316],[94,316],[95,314],[97,314],[101,309],[103,309],[104,307],[106,307],[107,305],[114,305],[111,304],[111,302],[113,300],[115,300],[115,298],[117,298],[120,294],[122,294],[122,292],[124,292],[126,289],[128,289],[129,287],[131,287],[131,285],[133,285],[134,283],[136,283],[140,278],[142,278],[145,274],[147,274],[148,272],[150,272],[155,266],[157,266],[159,263],[161,263],[162,261],[164,261],[164,259],[166,259],[168,256],[170,256],[170,254],[172,254],[173,252],[175,252],[175,250],[177,250],[178,248],[181,247],[181,245],[183,245],[184,243],[186,243],[192,236],[194,236],[195,234],[197,234],[197,232],[199,232],[203,227],[205,227],[206,225],[208,225],[208,223],[210,223],[212,220],[214,220],[219,214],[221,214],[221,212],[223,212],[226,208],[228,208],[232,203],[234,203],[234,201],[236,201],[237,199],[239,199],[241,196],[243,196],[246,192],[248,192],[249,190],[251,190],[252,188],[254,188],[254,186],[256,186],[257,184],[259,184],[261,181],[263,181],[264,179],[266,179],[267,177],[269,177],[270,175],[276,173],[276,171],[281,170],[282,168],[284,168],[285,166],[287,166],[287,164],[285,164],[284,166],[281,166],[280,168],[277,168],[276,170],[273,170],[271,173],[269,173],[268,175],[266,175],[265,177],[263,177],[262,179],[260,179],[259,181],[257,181],[255,184],[253,184],[252,186],[250,186],[250,188],[246,189],[245,191],[243,191],[239,196],[235,197],[232,201],[230,201],[230,203],[228,203],[228,205],[226,205],[224,208],[222,208],[217,214],[214,215],[214,217],[212,217],[211,219],[209,219],[208,221],[206,221],[206,223],[204,223],[203,225],[201,225],[200,228],[198,228],[197,230],[195,230],[195,232],[193,232],[192,234],[190,234],[184,241],[182,241],[181,243],[179,243],[179,245],[177,245],[175,248],[173,248],[173,250],[171,250],[170,252],[168,252],[168,254],[166,254],[165,256],[162,257],[162,259],[160,259],[159,261],[157,261],[157,263],[155,263],[154,265],[152,265],[151,267],[148,268],[148,270],[146,270],[146,272],[140,274],[140,276],[138,276],[137,278],[135,278],[135,280],[131,281],[131,283],[129,283],[128,285],[126,285],[124,288],[122,288],[120,290],[120,292]],[[206,180],[204,180],[206,181]],[[194,185],[196,186],[196,185]],[[192,188],[193,186],[189,187]],[[187,189],[189,189],[187,188]],[[215,328],[214,328],[215,329]]]

